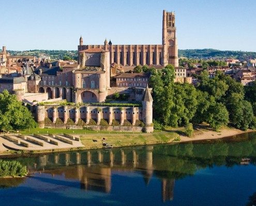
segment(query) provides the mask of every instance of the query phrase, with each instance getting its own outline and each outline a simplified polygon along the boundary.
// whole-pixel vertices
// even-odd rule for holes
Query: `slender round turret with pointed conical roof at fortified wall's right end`
[[[142,98],[142,119],[145,124],[145,132],[153,132],[153,98],[148,86]]]

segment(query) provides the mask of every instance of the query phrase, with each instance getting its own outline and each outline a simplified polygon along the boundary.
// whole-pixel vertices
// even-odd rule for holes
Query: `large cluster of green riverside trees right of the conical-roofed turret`
[[[256,127],[256,109],[253,112],[251,104],[255,100],[245,95],[243,85],[231,77],[217,72],[214,78],[209,78],[205,70],[197,77],[200,83],[196,87],[175,83],[174,78],[174,67],[167,65],[152,72],[149,79],[154,118],[162,125],[177,127],[206,122],[216,130],[228,123],[242,130]]]

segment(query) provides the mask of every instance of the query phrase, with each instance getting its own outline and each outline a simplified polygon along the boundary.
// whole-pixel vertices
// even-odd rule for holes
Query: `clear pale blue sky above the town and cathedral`
[[[256,52],[256,0],[0,0],[0,46],[161,44],[163,9],[176,13],[180,49]]]

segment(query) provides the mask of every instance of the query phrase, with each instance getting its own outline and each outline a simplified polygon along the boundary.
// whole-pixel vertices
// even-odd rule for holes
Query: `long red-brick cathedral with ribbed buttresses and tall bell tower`
[[[163,10],[161,45],[113,45],[104,41],[104,45],[83,45],[80,38],[78,46],[79,63],[84,64],[81,54],[86,49],[103,49],[110,53],[110,64],[123,66],[162,65],[178,66],[178,45],[176,37],[175,13]]]

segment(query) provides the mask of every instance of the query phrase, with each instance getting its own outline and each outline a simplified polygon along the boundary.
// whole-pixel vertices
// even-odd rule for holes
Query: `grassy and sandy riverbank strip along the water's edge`
[[[46,129],[45,129],[46,130]],[[69,130],[68,130],[69,131]],[[76,131],[76,130],[74,130]],[[183,142],[193,142],[200,140],[214,140],[221,138],[228,138],[236,134],[242,134],[246,132],[256,131],[247,130],[242,131],[235,128],[222,128],[220,131],[215,131],[207,127],[195,128],[194,135],[189,138],[184,134],[185,129],[181,128],[168,128],[165,131],[156,131],[153,133],[132,133],[132,132],[97,132],[97,131],[81,131],[83,133],[74,133],[69,131],[73,136],[80,137],[83,147],[73,147],[73,148],[62,148],[62,149],[45,149],[45,150],[32,150],[32,151],[13,151],[8,150],[1,143],[0,145],[0,156],[21,156],[23,154],[32,153],[49,153],[49,152],[61,152],[69,150],[81,150],[81,149],[100,149],[102,148],[102,142],[106,142],[113,147],[125,147],[125,146],[137,146],[137,145],[150,145],[150,144],[169,144],[169,143],[183,143]],[[58,131],[56,131],[58,132]],[[22,133],[27,133],[23,131]],[[40,130],[40,133],[47,133],[44,130]],[[50,133],[50,132],[49,132]],[[105,140],[103,140],[103,138]]]

